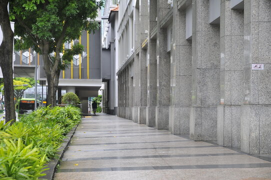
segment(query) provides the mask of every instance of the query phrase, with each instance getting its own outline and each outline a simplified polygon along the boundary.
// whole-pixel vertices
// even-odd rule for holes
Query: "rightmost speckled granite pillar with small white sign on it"
[[[271,1],[244,0],[244,103],[241,150],[271,153]],[[263,64],[262,70],[252,69]]]

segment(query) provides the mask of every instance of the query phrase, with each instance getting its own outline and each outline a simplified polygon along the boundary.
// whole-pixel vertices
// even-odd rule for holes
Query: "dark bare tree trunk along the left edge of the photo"
[[[3,32],[3,40],[0,45],[0,67],[4,81],[5,122],[16,118],[12,68],[14,34],[9,22],[7,4],[8,0],[0,0],[0,26]]]

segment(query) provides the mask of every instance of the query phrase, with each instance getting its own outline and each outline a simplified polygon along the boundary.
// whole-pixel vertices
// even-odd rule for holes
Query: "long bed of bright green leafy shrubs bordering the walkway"
[[[44,164],[81,119],[74,106],[43,107],[20,121],[0,122],[0,179],[37,179],[45,175]]]

